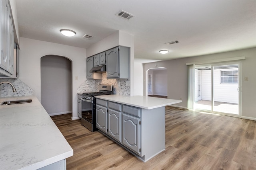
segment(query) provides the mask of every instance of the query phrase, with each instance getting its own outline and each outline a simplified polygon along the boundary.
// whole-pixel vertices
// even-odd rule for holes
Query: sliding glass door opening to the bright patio
[[[193,76],[193,109],[240,115],[240,63],[195,65]]]

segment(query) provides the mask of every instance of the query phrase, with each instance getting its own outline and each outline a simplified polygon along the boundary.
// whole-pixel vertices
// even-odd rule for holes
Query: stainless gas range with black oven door
[[[99,92],[82,93],[81,104],[78,104],[78,116],[81,118],[81,123],[92,132],[98,130],[96,128],[96,98],[94,96],[113,94],[113,85],[100,84],[99,90]]]

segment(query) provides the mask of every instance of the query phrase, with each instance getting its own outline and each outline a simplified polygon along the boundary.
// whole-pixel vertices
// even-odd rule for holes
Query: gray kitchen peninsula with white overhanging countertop
[[[165,150],[165,106],[181,100],[148,96],[96,97],[96,127],[146,162]]]

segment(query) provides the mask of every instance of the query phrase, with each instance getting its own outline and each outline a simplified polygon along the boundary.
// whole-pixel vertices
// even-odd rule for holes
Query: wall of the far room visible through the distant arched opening
[[[155,95],[167,96],[167,70],[153,70],[153,77],[153,93]]]

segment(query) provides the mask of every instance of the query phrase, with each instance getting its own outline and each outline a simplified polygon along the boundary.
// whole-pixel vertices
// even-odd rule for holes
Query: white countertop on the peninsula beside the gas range
[[[182,102],[182,100],[174,99],[154,98],[148,96],[119,96],[115,94],[95,97],[144,109],[154,109],[157,107],[168,106]]]

